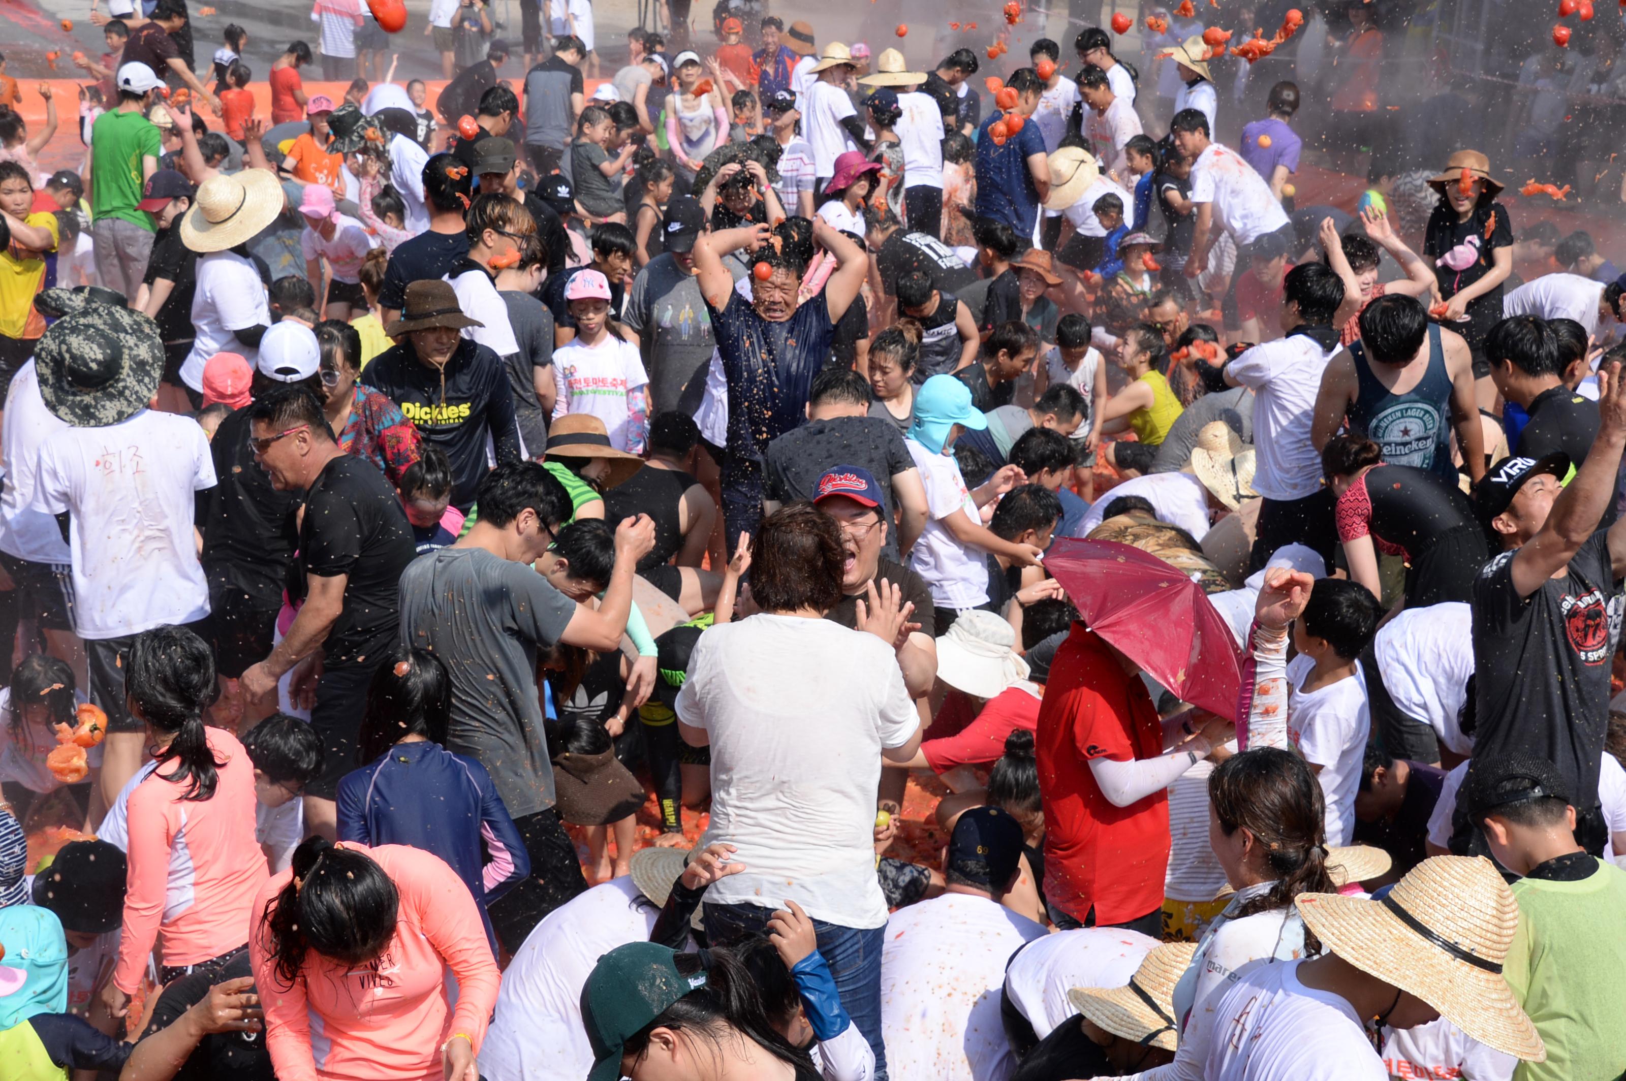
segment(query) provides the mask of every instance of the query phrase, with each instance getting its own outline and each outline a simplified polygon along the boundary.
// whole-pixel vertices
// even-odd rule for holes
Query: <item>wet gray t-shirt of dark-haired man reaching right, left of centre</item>
[[[433,650],[452,678],[446,749],[491,772],[512,818],[553,806],[537,650],[574,614],[540,574],[483,548],[441,548],[402,574],[402,640]]]

